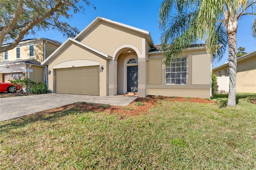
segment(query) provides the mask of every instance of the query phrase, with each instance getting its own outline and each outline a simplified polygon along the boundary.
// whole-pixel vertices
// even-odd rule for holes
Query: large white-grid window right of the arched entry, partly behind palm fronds
[[[188,57],[177,57],[166,65],[165,84],[188,83]]]

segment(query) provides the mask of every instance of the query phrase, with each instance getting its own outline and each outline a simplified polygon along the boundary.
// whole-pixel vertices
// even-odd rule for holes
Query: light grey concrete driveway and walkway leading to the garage
[[[76,102],[126,106],[136,98],[132,96],[90,96],[59,93],[0,98],[0,121],[6,121]]]

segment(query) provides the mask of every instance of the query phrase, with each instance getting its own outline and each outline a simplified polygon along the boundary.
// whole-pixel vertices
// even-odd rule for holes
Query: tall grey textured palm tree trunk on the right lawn
[[[236,48],[236,31],[230,32],[228,34],[229,106],[236,106]]]

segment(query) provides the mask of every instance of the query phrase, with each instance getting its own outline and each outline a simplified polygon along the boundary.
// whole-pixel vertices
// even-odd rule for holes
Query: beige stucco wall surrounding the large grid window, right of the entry
[[[184,51],[180,56],[187,56],[188,77],[187,84],[178,85],[165,83],[166,73],[165,65],[162,64],[162,54],[149,55],[147,95],[210,97],[210,56],[206,50]],[[159,68],[160,73],[158,73]],[[202,70],[205,73],[202,74]]]

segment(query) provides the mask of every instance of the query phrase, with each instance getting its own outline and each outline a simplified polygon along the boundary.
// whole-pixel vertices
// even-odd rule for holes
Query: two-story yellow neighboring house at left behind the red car
[[[21,41],[14,49],[0,53],[0,82],[30,78],[46,83],[47,68],[41,63],[61,44],[46,38],[29,39]]]

